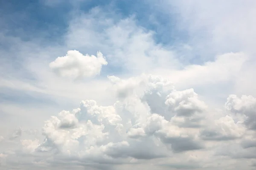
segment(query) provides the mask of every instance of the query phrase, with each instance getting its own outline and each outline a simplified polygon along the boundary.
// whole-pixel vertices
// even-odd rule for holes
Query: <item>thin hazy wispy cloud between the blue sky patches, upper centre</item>
[[[93,8],[89,14],[72,20],[65,35],[67,46],[90,51],[101,49],[106,54],[108,66],[121,67],[124,74],[140,74],[159,65],[180,67],[174,51],[155,43],[154,32],[138,26],[134,16],[116,20],[118,14],[108,15],[104,9]]]

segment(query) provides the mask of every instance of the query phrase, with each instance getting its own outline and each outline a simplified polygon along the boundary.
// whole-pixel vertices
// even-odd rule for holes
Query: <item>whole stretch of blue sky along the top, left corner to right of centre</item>
[[[154,39],[161,44],[174,44],[186,41],[186,31],[177,28],[177,16],[173,16],[158,7],[161,1],[137,0],[85,0],[72,6],[70,1],[60,1],[54,6],[47,6],[42,0],[2,1],[1,13],[4,18],[7,35],[17,36],[23,40],[43,36],[52,42],[61,39],[67,30],[70,11],[81,10],[88,13],[90,9],[100,7],[107,13],[126,18],[134,15],[137,25],[154,31]],[[170,9],[172,10],[172,9]],[[48,43],[48,42],[47,42]]]

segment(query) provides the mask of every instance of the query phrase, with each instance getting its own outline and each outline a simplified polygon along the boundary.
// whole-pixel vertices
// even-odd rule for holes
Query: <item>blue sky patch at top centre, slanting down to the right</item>
[[[79,8],[88,12],[91,8],[100,7],[103,11],[115,13],[115,17],[134,16],[138,26],[154,31],[156,43],[174,45],[184,43],[188,38],[186,30],[177,27],[178,14],[162,10],[160,1],[152,0],[89,0],[80,3]],[[170,6],[170,11],[174,11]]]

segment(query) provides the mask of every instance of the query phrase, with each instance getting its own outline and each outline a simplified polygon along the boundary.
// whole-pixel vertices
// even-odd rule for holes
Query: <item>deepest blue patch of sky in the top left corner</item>
[[[1,1],[1,32],[29,41],[35,37],[54,40],[65,33],[70,5],[45,6],[40,0]],[[49,42],[47,42],[49,43]]]

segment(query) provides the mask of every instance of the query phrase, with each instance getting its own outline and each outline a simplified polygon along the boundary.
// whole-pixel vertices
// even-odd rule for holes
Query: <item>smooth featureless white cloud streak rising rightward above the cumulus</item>
[[[156,70],[156,73],[164,74],[173,83],[182,86],[186,85],[186,88],[191,86],[204,87],[235,80],[247,61],[247,54],[241,52],[225,53],[217,55],[213,61],[205,62],[202,65],[187,65],[182,70],[163,70],[158,68],[159,70]]]

